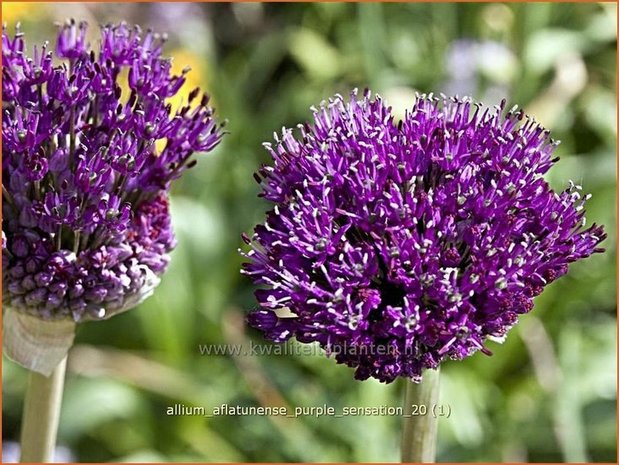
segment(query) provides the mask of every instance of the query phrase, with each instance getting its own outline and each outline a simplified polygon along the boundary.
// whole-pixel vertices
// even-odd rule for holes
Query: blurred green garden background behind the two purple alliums
[[[616,462],[615,4],[2,3],[28,47],[54,21],[125,20],[166,31],[178,69],[213,96],[230,131],[173,192],[179,246],[154,297],[81,327],[59,443],[77,461],[397,461],[400,419],[168,417],[174,403],[401,404],[403,384],[357,382],[323,356],[201,356],[199,344],[262,343],[246,330],[252,286],[241,232],[261,222],[252,173],[282,125],[335,92],[370,87],[402,111],[415,91],[506,97],[550,128],[569,179],[593,193],[606,254],[571,267],[492,357],[446,362],[439,461]],[[23,369],[3,361],[3,440],[18,439]],[[11,449],[11,450],[9,450]],[[11,452],[14,454],[14,451]],[[67,453],[67,449],[65,449]]]

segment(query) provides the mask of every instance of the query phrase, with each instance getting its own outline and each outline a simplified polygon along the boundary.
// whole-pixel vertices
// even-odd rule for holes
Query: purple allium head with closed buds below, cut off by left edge
[[[175,245],[170,183],[221,138],[199,89],[176,111],[166,101],[185,72],[163,37],[105,26],[95,52],[86,32],[62,25],[56,58],[2,35],[3,303],[52,321],[108,318],[152,292]]]

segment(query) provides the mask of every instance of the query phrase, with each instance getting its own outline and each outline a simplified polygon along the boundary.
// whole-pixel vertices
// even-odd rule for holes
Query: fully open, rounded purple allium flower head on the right
[[[243,272],[251,326],[317,342],[355,377],[424,368],[503,338],[570,262],[601,252],[579,186],[554,192],[548,131],[504,104],[419,96],[398,121],[367,92],[284,129],[256,175],[274,204]]]

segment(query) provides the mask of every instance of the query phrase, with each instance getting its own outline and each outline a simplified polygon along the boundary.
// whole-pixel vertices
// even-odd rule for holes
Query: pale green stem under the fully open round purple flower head
[[[423,381],[406,380],[402,463],[434,463],[436,460],[437,418],[433,406],[438,403],[439,370],[425,370]]]

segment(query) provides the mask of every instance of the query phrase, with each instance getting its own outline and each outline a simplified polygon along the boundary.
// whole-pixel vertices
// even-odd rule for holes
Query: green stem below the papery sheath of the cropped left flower
[[[65,357],[49,377],[30,372],[21,430],[21,462],[46,463],[54,458],[67,366]]]

